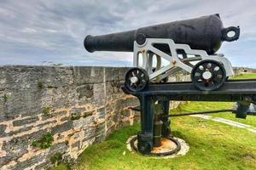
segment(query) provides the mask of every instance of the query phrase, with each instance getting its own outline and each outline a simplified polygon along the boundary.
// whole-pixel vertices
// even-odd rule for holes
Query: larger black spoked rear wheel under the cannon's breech
[[[224,66],[212,59],[197,63],[191,72],[191,80],[196,88],[211,91],[220,88],[226,80]]]

